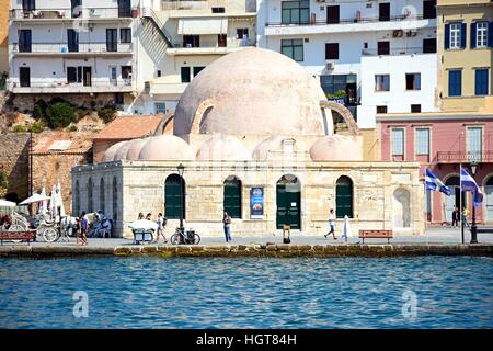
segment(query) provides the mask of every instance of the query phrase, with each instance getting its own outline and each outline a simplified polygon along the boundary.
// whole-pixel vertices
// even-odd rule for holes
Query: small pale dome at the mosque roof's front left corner
[[[174,135],[160,135],[148,138],[144,144],[139,160],[194,160],[194,151],[185,140]]]

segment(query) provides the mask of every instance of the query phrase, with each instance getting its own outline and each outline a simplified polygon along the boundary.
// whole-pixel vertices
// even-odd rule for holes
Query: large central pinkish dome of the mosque
[[[331,135],[325,133],[319,82],[279,53],[246,48],[208,65],[186,87],[174,135]],[[332,121],[332,120],[331,120]]]

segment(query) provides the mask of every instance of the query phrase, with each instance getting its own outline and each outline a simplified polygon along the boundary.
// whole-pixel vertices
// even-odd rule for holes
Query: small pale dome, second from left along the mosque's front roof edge
[[[197,160],[245,161],[251,160],[244,144],[231,135],[215,135],[197,151]]]

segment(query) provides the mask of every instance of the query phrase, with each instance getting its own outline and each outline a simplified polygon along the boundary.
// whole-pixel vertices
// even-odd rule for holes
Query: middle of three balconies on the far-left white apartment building
[[[131,43],[110,46],[106,42],[79,43],[71,49],[66,43],[32,43],[31,47],[22,47],[19,43],[12,44],[12,54],[15,56],[128,56],[133,53]]]

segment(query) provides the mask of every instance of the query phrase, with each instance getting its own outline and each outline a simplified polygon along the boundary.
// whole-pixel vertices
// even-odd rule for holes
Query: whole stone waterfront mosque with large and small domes
[[[351,135],[334,134],[333,116]],[[337,234],[345,215],[353,235],[424,233],[419,163],[363,161],[351,113],[282,54],[249,48],[210,64],[170,123],[173,135],[122,141],[101,162],[74,167],[74,213],[104,211],[117,237],[131,237],[139,212],[162,212],[168,234],[182,212],[185,227],[222,236],[223,211],[233,237],[280,233],[284,224],[322,235],[330,208]]]

